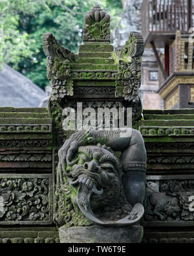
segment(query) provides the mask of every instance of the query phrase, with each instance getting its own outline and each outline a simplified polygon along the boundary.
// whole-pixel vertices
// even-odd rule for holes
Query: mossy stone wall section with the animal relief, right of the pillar
[[[192,242],[194,111],[144,110],[147,150],[143,242]]]

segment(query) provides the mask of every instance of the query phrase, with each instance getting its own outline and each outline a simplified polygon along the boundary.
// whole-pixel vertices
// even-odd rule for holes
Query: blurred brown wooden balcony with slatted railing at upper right
[[[144,0],[142,3],[142,34],[145,43],[154,42],[164,47],[169,39],[175,38],[193,27],[194,0]]]

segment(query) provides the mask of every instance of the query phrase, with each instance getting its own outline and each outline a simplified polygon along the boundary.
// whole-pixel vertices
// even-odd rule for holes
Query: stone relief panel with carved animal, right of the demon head
[[[163,222],[167,226],[192,225],[194,178],[186,176],[184,180],[183,176],[175,175],[147,176],[144,207],[144,223],[149,222],[149,226],[160,225],[158,222]]]

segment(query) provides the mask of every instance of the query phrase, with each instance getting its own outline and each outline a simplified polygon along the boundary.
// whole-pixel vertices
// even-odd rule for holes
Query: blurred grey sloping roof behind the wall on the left
[[[38,107],[47,94],[30,79],[3,65],[0,70],[0,106]]]

